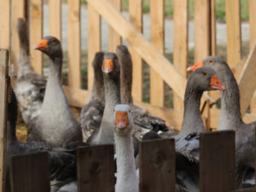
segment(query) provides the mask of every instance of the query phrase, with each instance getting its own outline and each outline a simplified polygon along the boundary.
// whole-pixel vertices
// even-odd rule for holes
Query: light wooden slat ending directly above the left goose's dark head
[[[49,35],[61,40],[61,0],[49,1]]]

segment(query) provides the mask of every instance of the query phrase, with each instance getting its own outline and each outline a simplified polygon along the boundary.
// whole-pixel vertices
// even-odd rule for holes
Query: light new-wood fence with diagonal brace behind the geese
[[[101,19],[108,21],[108,50],[114,51],[124,38],[130,44],[133,60],[133,85],[132,96],[135,103],[147,108],[150,113],[166,120],[167,125],[175,129],[181,127],[183,119],[183,94],[186,86],[189,55],[189,0],[173,0],[174,2],[174,49],[173,65],[166,59],[165,54],[165,14],[164,0],[151,0],[150,6],[150,34],[149,42],[143,37],[143,0],[129,0],[130,20],[121,15],[121,0],[88,0],[88,90],[81,89],[81,18],[80,0],[68,2],[68,86],[64,86],[68,102],[71,106],[82,108],[86,103],[93,84],[93,70],[90,65],[96,51],[101,50]],[[230,67],[236,67],[241,60],[241,19],[240,1],[226,0],[226,25],[227,25],[227,61]],[[232,3],[231,3],[232,2]],[[207,55],[216,55],[216,17],[215,0],[196,0],[194,12],[195,23],[195,62],[201,61]],[[256,7],[254,0],[249,0],[250,23],[250,49],[251,55],[236,67],[236,79],[241,90],[241,112],[245,122],[256,119],[256,99],[253,97],[256,84],[254,72],[256,61],[253,44],[256,39]],[[12,11],[11,11],[12,10]],[[11,49],[14,70],[17,73],[17,55],[19,42],[15,32],[18,17],[26,17],[30,26],[31,45],[42,38],[43,33],[43,1],[42,0],[4,0],[0,4],[0,16],[5,18],[0,21],[0,47]],[[61,0],[49,0],[49,35],[61,38]],[[254,20],[254,21],[253,21]],[[12,26],[11,26],[12,24]],[[12,34],[12,36],[11,36]],[[11,45],[11,39],[13,44]],[[32,48],[32,46],[31,46]],[[254,50],[254,51],[253,51]],[[32,64],[38,73],[43,73],[42,53],[31,51]],[[150,67],[150,104],[143,102],[143,61]],[[164,108],[164,82],[174,92],[173,109]],[[246,90],[246,91],[245,91]],[[213,99],[219,98],[218,92],[212,92]],[[253,97],[253,100],[252,100]],[[255,97],[256,98],[256,97]],[[206,99],[204,99],[205,101]],[[252,100],[252,102],[251,102]],[[245,113],[251,102],[251,113]],[[209,103],[209,102],[208,102]],[[216,129],[218,126],[218,108],[207,105],[203,113],[205,125]]]

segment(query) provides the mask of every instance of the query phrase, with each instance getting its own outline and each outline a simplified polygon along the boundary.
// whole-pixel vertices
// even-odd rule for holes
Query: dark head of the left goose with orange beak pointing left
[[[46,36],[34,46],[34,49],[41,50],[50,58],[62,57],[61,42],[53,36]]]

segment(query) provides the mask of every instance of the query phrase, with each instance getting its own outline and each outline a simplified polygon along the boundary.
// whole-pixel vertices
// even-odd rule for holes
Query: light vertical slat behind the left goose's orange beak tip
[[[39,74],[43,73],[43,57],[41,51],[35,51],[34,45],[43,37],[43,1],[30,0],[30,48],[32,66]]]

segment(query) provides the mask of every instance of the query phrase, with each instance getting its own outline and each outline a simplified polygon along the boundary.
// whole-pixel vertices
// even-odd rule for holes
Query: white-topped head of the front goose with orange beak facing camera
[[[125,136],[132,131],[133,119],[129,105],[118,104],[114,107],[113,112],[113,131],[116,134]]]

